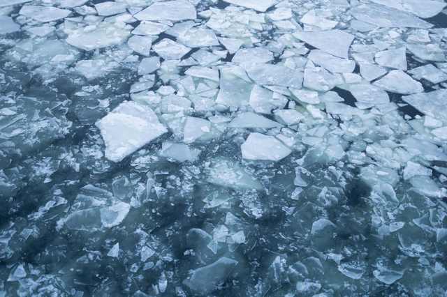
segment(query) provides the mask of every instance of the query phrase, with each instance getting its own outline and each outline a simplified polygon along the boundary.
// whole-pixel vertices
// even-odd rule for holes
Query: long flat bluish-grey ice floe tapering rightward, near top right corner
[[[362,4],[351,9],[357,20],[384,28],[410,27],[428,29],[433,25],[411,13],[377,4]]]

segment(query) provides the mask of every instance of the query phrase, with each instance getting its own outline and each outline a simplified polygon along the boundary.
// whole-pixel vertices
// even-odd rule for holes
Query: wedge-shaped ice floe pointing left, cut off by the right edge
[[[423,114],[447,123],[447,89],[403,96],[402,100]]]

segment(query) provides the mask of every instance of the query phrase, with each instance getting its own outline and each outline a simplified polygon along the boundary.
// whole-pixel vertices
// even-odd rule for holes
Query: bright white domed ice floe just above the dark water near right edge
[[[374,85],[379,86],[386,91],[404,95],[421,93],[424,91],[420,82],[412,79],[402,70],[390,71],[390,73],[374,82]]]

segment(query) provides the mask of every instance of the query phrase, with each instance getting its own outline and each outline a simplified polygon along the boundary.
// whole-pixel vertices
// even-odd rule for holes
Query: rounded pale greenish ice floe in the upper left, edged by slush
[[[82,50],[96,50],[124,43],[129,37],[129,29],[113,23],[102,22],[96,27],[75,29],[68,34],[67,43]]]

